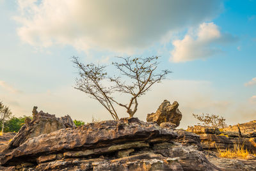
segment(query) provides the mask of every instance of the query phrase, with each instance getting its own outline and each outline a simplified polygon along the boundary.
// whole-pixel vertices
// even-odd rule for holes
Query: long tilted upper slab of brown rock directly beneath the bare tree
[[[150,138],[148,138],[150,137]],[[114,144],[129,141],[147,140],[148,142],[162,142],[177,137],[171,130],[161,129],[155,123],[144,123],[138,118],[120,119],[120,121],[102,121],[90,123],[78,128],[67,128],[29,138],[12,152],[6,154],[2,164],[19,161],[22,156],[36,156],[60,151],[79,151],[97,149],[104,154],[113,151],[102,149]],[[131,148],[130,146],[127,148]],[[113,149],[113,148],[111,148]],[[125,149],[125,148],[122,148]],[[32,157],[31,157],[32,158]]]

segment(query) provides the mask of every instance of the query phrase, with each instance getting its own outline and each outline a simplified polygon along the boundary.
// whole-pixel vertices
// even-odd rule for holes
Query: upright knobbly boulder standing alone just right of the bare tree
[[[161,123],[173,123],[175,124],[175,127],[177,127],[182,118],[182,114],[178,107],[179,103],[177,101],[174,101],[171,105],[170,101],[164,100],[156,113],[147,115],[147,122],[156,122],[159,125]]]

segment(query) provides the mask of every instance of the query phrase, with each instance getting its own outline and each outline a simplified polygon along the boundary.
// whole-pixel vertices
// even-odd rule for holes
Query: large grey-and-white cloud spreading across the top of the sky
[[[212,19],[220,1],[19,0],[20,38],[36,46],[120,52],[149,47],[173,31]],[[168,38],[169,39],[169,38]]]

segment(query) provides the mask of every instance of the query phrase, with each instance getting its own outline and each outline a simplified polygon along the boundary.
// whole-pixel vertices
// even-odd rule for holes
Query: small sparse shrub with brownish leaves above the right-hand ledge
[[[204,126],[213,126],[216,128],[225,128],[226,124],[225,121],[226,119],[224,119],[222,116],[220,115],[209,115],[209,114],[201,114],[201,115],[196,115],[193,114],[193,116],[198,119],[198,121],[200,121],[202,124],[204,124]],[[200,123],[198,123],[200,124]]]

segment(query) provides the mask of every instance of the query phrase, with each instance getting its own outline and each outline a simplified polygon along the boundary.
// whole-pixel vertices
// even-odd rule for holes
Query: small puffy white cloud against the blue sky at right
[[[172,42],[174,49],[170,61],[175,63],[205,59],[222,52],[216,45],[234,41],[236,38],[229,34],[221,34],[213,22],[202,23],[195,31],[189,31],[183,40]]]

